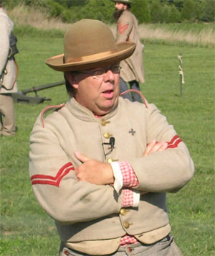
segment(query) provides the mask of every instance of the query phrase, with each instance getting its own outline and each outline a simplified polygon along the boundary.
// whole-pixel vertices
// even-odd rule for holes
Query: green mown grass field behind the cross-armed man
[[[62,81],[44,64],[62,53],[62,38],[19,37],[19,91]],[[183,54],[185,84],[179,96],[178,53]],[[214,255],[214,48],[145,43],[145,83],[141,90],[168,117],[186,142],[196,174],[176,194],[168,194],[172,234],[184,256]],[[15,104],[15,137],[1,137],[1,245],[4,256],[57,256],[54,221],[37,203],[29,181],[29,134],[48,104],[67,101],[64,86],[40,91],[52,101]],[[177,255],[176,255],[177,256]]]

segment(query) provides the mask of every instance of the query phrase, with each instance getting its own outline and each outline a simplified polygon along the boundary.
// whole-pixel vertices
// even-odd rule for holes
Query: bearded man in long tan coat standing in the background
[[[139,83],[144,83],[143,71],[143,44],[140,42],[138,35],[138,20],[135,15],[130,12],[130,0],[112,0],[115,2],[115,19],[118,19],[116,42],[135,42],[136,47],[130,58],[120,63],[120,93],[128,90],[129,83],[131,89],[140,91]],[[124,98],[141,102],[138,93],[125,94]]]

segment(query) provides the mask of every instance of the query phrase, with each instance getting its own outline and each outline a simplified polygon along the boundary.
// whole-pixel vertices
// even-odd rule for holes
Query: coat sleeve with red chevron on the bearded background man
[[[133,28],[133,19],[131,15],[121,15],[118,19],[116,42],[129,41],[129,35]]]

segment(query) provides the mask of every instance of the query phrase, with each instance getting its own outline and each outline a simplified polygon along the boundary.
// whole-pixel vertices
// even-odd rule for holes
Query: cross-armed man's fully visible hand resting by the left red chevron
[[[91,159],[80,152],[75,152],[75,157],[82,162],[82,165],[75,168],[78,180],[85,180],[92,184],[105,185],[114,182],[113,170],[109,163]]]

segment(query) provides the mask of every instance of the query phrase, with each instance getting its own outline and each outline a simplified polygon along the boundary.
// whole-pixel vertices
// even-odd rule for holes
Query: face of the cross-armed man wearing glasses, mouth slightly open
[[[70,77],[72,81],[67,77],[76,89],[76,101],[98,116],[112,111],[118,103],[120,93],[118,67],[117,63],[103,69],[83,70],[78,72],[75,78]]]

